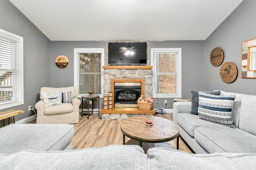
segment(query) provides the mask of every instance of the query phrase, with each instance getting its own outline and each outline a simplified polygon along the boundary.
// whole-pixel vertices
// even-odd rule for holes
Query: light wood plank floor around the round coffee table
[[[155,116],[172,120],[172,113],[156,114]],[[74,124],[75,135],[72,139],[72,149],[122,145],[121,122],[122,120],[102,120],[98,117],[98,114],[90,115],[89,119],[87,119],[87,115],[80,117],[80,123]],[[129,138],[126,137],[126,142],[128,140]],[[176,149],[176,139],[168,143]],[[179,150],[194,153],[181,138],[179,138]]]

